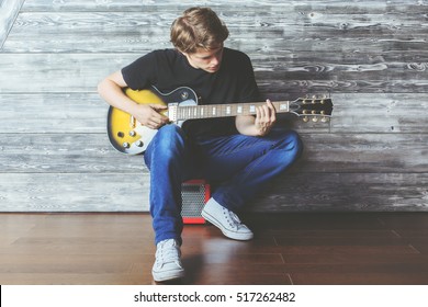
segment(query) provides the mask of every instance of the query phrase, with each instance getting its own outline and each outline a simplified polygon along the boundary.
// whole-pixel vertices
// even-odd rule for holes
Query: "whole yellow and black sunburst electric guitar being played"
[[[255,115],[256,106],[266,102],[198,105],[196,93],[187,87],[170,93],[161,93],[156,88],[134,91],[127,88],[125,94],[139,104],[162,104],[168,109],[161,114],[178,125],[187,120]],[[277,113],[294,113],[304,122],[327,122],[331,116],[333,102],[329,98],[300,98],[294,101],[272,102]],[[108,134],[110,143],[123,154],[137,155],[146,150],[157,129],[148,128],[126,112],[110,106]]]

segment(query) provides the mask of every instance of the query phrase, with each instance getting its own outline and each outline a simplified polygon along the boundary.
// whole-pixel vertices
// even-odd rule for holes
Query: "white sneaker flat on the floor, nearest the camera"
[[[160,241],[157,245],[156,261],[151,270],[155,282],[183,277],[184,269],[180,258],[180,246],[174,239]]]

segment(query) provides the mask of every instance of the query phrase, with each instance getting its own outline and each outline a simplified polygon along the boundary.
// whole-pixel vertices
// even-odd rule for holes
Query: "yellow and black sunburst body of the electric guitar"
[[[134,91],[125,90],[125,94],[138,104],[161,104],[161,105],[196,105],[198,96],[190,88],[178,88],[174,91],[164,94],[158,89]],[[168,110],[162,112],[168,116]],[[157,129],[148,128],[134,118],[131,114],[110,106],[108,113],[108,135],[111,145],[123,154],[137,155],[147,149]],[[181,124],[178,122],[177,124]]]

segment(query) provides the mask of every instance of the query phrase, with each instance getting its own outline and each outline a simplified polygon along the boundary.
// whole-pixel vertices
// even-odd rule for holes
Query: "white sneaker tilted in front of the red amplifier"
[[[250,240],[254,237],[252,231],[240,221],[236,214],[218,204],[214,198],[210,198],[205,204],[202,216],[217,226],[227,238]]]

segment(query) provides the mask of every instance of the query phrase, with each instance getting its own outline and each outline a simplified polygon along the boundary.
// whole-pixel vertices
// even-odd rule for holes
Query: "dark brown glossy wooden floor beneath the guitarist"
[[[183,232],[182,284],[428,284],[428,213],[255,215]],[[145,214],[1,214],[0,284],[153,284]]]

